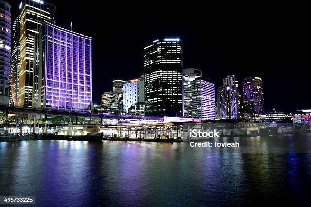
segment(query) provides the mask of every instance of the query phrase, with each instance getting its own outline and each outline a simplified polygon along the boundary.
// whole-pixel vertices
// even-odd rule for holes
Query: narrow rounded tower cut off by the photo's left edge
[[[11,58],[11,5],[0,0],[0,104],[9,105]]]

